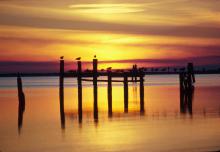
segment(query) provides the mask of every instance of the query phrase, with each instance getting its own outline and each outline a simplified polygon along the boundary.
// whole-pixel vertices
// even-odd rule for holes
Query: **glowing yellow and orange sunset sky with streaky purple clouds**
[[[94,54],[108,63],[219,65],[219,6],[219,0],[2,0],[0,72],[18,64],[49,68],[59,56],[90,61]]]

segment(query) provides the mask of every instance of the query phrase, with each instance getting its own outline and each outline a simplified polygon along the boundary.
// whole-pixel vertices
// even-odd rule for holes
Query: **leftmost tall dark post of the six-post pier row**
[[[60,120],[61,127],[65,128],[65,114],[64,114],[64,60],[63,57],[60,58]]]

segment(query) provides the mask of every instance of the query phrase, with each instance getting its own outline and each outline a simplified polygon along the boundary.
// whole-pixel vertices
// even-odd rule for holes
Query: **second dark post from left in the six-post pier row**
[[[78,117],[79,122],[82,121],[82,64],[77,61],[77,82],[78,82]]]

